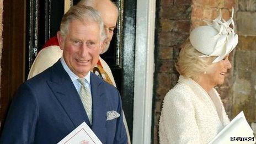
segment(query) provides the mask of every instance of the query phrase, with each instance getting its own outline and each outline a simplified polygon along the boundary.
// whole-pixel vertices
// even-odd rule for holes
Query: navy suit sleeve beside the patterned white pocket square
[[[118,105],[118,113],[120,114],[120,117],[118,118],[118,120],[116,121],[116,134],[115,134],[115,138],[114,138],[114,144],[127,144],[127,134],[126,134],[126,130],[125,130],[125,125],[123,122],[123,118],[122,118],[122,100],[120,97],[120,94],[118,92],[118,90],[116,90],[116,92],[118,93],[118,97],[119,97],[119,105]]]

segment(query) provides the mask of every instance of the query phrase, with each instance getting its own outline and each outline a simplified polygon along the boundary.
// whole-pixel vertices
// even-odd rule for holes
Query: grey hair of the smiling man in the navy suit
[[[93,9],[92,7],[77,4],[76,6],[72,6],[62,17],[60,31],[61,36],[64,39],[66,39],[68,27],[73,20],[80,20],[84,23],[87,21],[96,22],[99,26],[100,41],[102,42],[106,38],[104,23],[102,22],[102,18],[100,17],[100,14],[97,12],[97,10]]]

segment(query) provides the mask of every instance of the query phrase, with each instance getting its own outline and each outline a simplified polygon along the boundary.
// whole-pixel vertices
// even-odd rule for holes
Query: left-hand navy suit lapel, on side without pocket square
[[[66,111],[74,127],[79,126],[83,121],[86,121],[87,125],[90,126],[88,116],[83,108],[77,90],[67,72],[62,67],[60,60],[52,66],[52,81],[47,83],[58,99],[58,102],[60,102]]]

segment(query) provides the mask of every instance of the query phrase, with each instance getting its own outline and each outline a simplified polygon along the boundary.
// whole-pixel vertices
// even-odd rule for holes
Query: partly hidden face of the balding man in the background
[[[108,50],[110,41],[113,37],[114,29],[116,27],[116,21],[118,20],[118,12],[116,11],[116,7],[114,6],[114,4],[110,1],[103,1],[98,3],[95,9],[98,10],[102,17],[105,33],[107,36],[103,51],[101,52],[101,54],[103,54]]]

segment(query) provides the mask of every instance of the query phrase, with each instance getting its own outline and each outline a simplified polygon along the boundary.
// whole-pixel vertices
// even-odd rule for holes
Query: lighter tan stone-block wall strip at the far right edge
[[[241,110],[256,134],[256,0],[237,0],[237,31],[231,89],[231,118]]]

